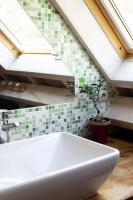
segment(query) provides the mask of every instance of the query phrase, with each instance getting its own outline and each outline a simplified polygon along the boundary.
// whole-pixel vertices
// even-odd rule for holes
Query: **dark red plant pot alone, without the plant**
[[[89,125],[91,126],[92,139],[95,142],[105,144],[108,138],[108,126],[111,124],[111,120],[103,118],[103,121],[96,121],[95,118],[90,118]]]

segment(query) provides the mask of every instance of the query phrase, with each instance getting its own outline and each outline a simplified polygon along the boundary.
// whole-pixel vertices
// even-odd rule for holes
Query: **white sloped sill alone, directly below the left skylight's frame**
[[[50,54],[22,54],[7,69],[11,71],[73,76],[62,60],[56,60],[56,57]]]

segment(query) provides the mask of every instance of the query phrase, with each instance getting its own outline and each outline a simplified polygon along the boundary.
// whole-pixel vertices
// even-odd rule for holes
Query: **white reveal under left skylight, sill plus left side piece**
[[[74,75],[59,58],[51,54],[21,54],[15,56],[0,42],[0,65],[3,69],[11,72],[27,72],[62,76],[69,81],[74,80]],[[2,70],[3,70],[2,69]]]

